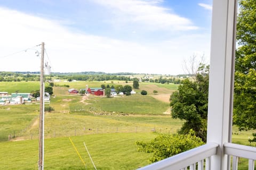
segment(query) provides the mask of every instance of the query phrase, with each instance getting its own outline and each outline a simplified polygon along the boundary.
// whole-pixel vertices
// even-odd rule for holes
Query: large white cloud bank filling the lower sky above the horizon
[[[209,35],[183,35],[164,42],[139,44],[76,33],[57,21],[1,7],[0,16],[5,16],[0,18],[0,71],[39,71],[40,60],[34,49],[13,53],[43,41],[53,72],[179,74],[184,57],[208,49],[210,44]],[[39,47],[34,48],[40,51]]]

